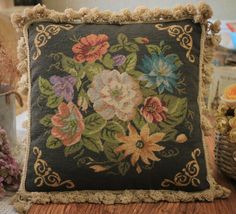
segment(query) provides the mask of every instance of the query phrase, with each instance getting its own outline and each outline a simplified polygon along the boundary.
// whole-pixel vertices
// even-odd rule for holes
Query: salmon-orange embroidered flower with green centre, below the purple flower
[[[58,113],[51,118],[51,121],[53,124],[52,136],[61,140],[65,146],[80,141],[84,130],[83,116],[72,102],[61,103],[58,106]]]

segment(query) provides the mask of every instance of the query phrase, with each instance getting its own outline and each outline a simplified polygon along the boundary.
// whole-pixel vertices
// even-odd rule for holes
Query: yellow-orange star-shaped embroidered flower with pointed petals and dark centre
[[[116,148],[116,152],[124,151],[124,157],[131,155],[131,164],[135,166],[139,158],[145,163],[150,164],[149,160],[159,161],[154,152],[164,149],[163,146],[158,145],[165,134],[155,133],[150,135],[148,124],[144,125],[141,129],[140,135],[137,130],[129,123],[129,136],[117,134],[116,138],[122,142],[122,145]]]

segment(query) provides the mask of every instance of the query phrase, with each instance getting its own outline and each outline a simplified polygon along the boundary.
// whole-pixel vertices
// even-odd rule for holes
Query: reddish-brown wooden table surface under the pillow
[[[217,172],[214,164],[214,137],[206,137],[210,153],[210,166],[219,184],[231,189],[228,199],[209,202],[168,203],[156,204],[137,203],[130,205],[101,205],[101,204],[49,204],[33,205],[30,214],[236,214],[236,182]]]

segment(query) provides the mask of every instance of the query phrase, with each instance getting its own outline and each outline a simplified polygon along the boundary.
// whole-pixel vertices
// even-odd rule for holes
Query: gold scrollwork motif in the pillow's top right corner
[[[156,24],[155,27],[158,30],[167,30],[170,36],[176,37],[176,41],[180,43],[181,47],[187,50],[187,59],[192,63],[195,62],[195,57],[191,54],[193,48],[193,39],[190,35],[193,31],[192,26],[185,25],[182,27],[180,25],[170,25],[164,27],[163,24]]]

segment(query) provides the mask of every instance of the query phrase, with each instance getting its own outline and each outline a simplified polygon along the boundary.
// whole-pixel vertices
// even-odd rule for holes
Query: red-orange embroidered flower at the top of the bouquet
[[[82,37],[79,43],[72,47],[74,58],[81,63],[84,61],[95,62],[97,59],[101,59],[110,47],[107,41],[108,36],[105,34],[90,34]]]

